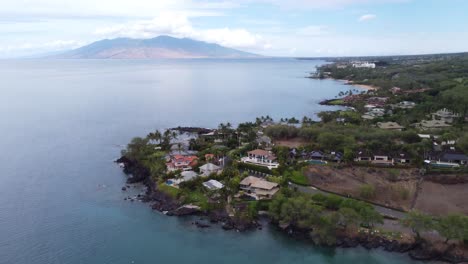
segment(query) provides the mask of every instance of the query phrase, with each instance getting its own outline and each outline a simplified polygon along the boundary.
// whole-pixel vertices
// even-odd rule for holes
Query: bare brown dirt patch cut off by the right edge
[[[447,185],[424,181],[420,188],[414,209],[432,215],[468,214],[468,183]]]

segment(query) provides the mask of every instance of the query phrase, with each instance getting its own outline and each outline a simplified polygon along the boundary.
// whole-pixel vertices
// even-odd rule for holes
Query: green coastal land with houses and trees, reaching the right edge
[[[467,54],[335,59],[312,77],[374,89],[327,100],[347,107],[320,121],[266,116],[134,138],[117,162],[147,193],[128,199],[205,216],[201,228],[267,219],[318,245],[466,262],[467,69]]]

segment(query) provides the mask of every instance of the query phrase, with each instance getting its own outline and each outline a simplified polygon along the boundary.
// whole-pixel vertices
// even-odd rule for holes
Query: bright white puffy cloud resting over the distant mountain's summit
[[[262,36],[243,28],[194,28],[189,18],[182,13],[164,13],[151,20],[98,28],[94,33],[105,38],[153,38],[159,35],[170,35],[213,42],[232,48],[253,50],[264,50],[271,47],[271,44]]]

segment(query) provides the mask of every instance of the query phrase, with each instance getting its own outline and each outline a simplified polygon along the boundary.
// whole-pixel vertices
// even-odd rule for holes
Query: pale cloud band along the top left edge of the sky
[[[219,16],[237,7],[230,1],[208,0],[4,0],[1,18],[98,19],[150,18],[160,12],[184,12],[188,16]]]

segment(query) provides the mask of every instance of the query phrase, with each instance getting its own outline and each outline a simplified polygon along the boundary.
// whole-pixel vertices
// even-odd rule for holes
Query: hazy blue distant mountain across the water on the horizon
[[[52,57],[63,59],[161,59],[256,58],[260,55],[189,38],[159,36],[152,39],[104,39]]]

